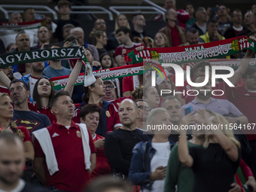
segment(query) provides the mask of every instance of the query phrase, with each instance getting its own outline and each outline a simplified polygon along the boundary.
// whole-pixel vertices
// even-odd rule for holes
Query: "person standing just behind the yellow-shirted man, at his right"
[[[231,21],[228,19],[227,7],[225,5],[219,5],[218,10],[218,32],[224,35],[224,32],[230,27]]]

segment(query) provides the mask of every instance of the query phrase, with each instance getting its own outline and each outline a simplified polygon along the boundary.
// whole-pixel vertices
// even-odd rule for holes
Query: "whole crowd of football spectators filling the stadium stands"
[[[6,54],[82,46],[90,68],[97,71],[132,66],[126,60],[132,50],[201,45],[241,35],[256,41],[256,4],[242,13],[225,5],[190,3],[178,9],[175,0],[165,0],[166,26],[151,37],[143,14],[134,14],[131,23],[120,14],[108,35],[105,20],[98,18],[93,29],[82,29],[70,17],[69,1],[53,2],[60,14],[55,22],[39,18],[29,7],[23,18],[19,12],[10,14],[10,25],[41,19],[48,24],[23,30],[0,27]],[[91,31],[90,41],[85,41],[85,30]],[[0,191],[256,192],[254,129],[181,129],[191,124],[255,126],[256,68],[249,66],[254,51],[221,57],[230,58],[242,59],[228,78],[235,87],[226,81],[213,87],[211,79],[203,87],[187,81],[175,87],[171,72],[155,87],[148,75],[107,81],[94,75],[96,80],[85,87],[76,84],[80,73],[88,72],[77,58],[1,65]],[[202,83],[211,72],[208,60],[196,62],[192,81]],[[59,90],[51,79],[65,75],[69,81]],[[160,94],[162,90],[172,93]],[[212,95],[212,90],[224,94]],[[178,130],[148,130],[159,125]]]

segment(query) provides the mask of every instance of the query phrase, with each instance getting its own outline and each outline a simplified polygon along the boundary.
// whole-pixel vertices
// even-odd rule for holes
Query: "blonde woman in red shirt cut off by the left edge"
[[[9,131],[13,132],[23,141],[25,149],[26,161],[34,160],[35,152],[32,145],[32,140],[29,136],[29,131],[25,126],[17,126],[11,121],[14,117],[14,107],[13,102],[8,95],[8,93],[0,93],[0,127],[1,132]]]

